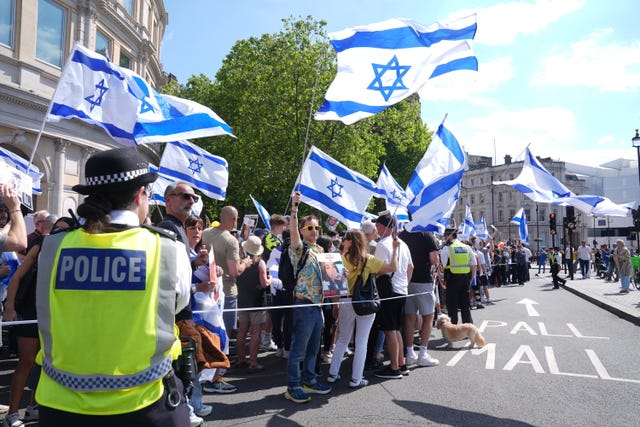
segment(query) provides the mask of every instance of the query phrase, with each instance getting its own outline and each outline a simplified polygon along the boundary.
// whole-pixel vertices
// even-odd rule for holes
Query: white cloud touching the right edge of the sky
[[[543,58],[533,85],[586,86],[603,92],[640,88],[640,43],[606,43],[611,29],[592,33]]]

